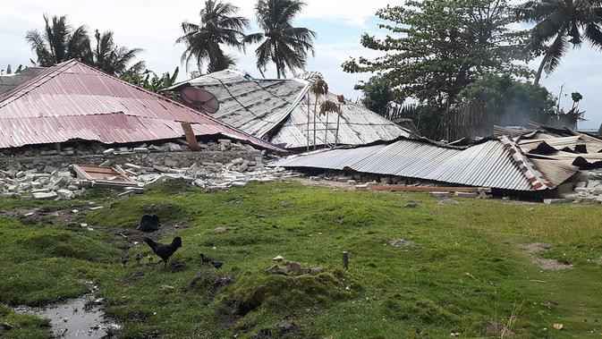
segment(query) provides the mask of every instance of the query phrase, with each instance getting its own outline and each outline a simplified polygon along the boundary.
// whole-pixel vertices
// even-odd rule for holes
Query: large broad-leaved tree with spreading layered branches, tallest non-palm
[[[408,0],[377,12],[392,32],[379,39],[364,34],[361,44],[386,52],[374,60],[360,57],[343,64],[345,72],[376,72],[391,84],[396,102],[412,97],[443,111],[479,75],[527,75],[514,63],[522,53],[523,32],[506,0]]]

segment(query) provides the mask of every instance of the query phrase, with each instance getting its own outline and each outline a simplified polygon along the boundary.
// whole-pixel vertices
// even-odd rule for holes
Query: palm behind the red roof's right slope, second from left
[[[128,70],[128,65],[142,52],[140,48],[117,47],[114,44],[113,32],[106,31],[102,34],[96,30],[94,37],[97,40],[96,49],[93,51],[94,66],[111,75],[122,75]],[[134,64],[135,69],[140,68],[143,62]]]

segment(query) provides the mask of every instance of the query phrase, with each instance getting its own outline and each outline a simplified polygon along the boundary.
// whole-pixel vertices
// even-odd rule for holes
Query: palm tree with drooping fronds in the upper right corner
[[[536,23],[527,47],[544,55],[535,84],[542,72],[555,71],[570,45],[579,47],[585,38],[593,47],[602,48],[600,0],[536,0],[521,5],[519,13],[522,20]]]

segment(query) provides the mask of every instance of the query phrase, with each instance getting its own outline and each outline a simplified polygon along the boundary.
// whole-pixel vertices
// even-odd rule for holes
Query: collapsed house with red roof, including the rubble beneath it
[[[262,151],[285,152],[75,60],[0,94],[0,192],[5,197],[31,193],[35,199],[71,199],[96,174],[102,174],[96,183],[130,191],[170,178],[211,191],[283,176],[264,167]],[[78,168],[92,168],[94,175]]]

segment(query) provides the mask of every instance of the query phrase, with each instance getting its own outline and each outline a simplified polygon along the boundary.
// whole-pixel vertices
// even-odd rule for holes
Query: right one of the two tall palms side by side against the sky
[[[262,33],[250,34],[245,43],[259,43],[255,50],[257,67],[263,75],[270,62],[276,64],[278,79],[286,76],[286,69],[303,69],[309,53],[314,55],[316,32],[293,27],[294,17],[305,3],[300,0],[259,0],[255,5],[257,21]]]

